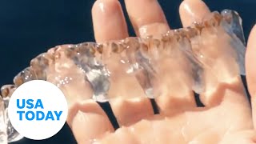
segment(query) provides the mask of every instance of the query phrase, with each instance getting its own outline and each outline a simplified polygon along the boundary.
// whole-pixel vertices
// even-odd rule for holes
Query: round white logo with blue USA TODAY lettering
[[[26,82],[12,94],[8,107],[11,124],[26,138],[50,138],[62,129],[68,107],[64,94],[54,84],[41,80]]]

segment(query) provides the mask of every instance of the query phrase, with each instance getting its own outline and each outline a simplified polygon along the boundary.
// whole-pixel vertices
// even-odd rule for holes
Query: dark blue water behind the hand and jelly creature
[[[181,0],[160,0],[172,28],[181,26]],[[254,0],[206,0],[211,10],[237,10],[248,37],[256,18]],[[94,41],[89,0],[2,0],[0,2],[0,86],[11,83],[15,74],[29,66],[30,59],[52,46]],[[122,1],[122,6],[123,1]],[[126,17],[127,18],[127,17]],[[129,22],[130,34],[134,36]],[[36,142],[36,141],[35,141]],[[34,143],[24,139],[22,143]],[[37,142],[36,142],[37,143]],[[74,143],[68,126],[38,143]]]

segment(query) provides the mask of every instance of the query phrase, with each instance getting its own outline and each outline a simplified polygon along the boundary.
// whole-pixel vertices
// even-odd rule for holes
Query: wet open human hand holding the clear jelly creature
[[[125,2],[138,37],[162,34],[170,29],[156,0]],[[129,36],[122,8],[117,0],[96,1],[92,14],[96,42]],[[190,26],[194,21],[202,21],[206,14],[210,14],[210,10],[200,0],[185,0],[180,6],[180,17],[184,27]],[[246,78],[252,96],[253,116],[256,114],[256,69],[252,66],[252,62],[256,60],[255,39],[256,28],[252,30],[246,53]],[[222,69],[224,67],[219,67],[219,70]],[[182,101],[175,101],[171,97],[156,99],[160,114],[153,113],[147,98],[112,101],[110,105],[120,126],[115,132],[106,114],[96,102],[80,102],[74,106],[74,117],[71,117],[68,123],[79,143],[256,142],[256,120],[252,117],[240,77],[228,84],[219,82],[214,94],[207,95],[207,98],[205,95],[200,97],[205,107],[197,107],[192,94],[188,94]]]

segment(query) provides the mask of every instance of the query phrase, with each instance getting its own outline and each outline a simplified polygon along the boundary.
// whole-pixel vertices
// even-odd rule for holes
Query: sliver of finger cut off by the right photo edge
[[[256,26],[250,32],[246,50],[246,82],[251,97],[254,127],[256,126]]]

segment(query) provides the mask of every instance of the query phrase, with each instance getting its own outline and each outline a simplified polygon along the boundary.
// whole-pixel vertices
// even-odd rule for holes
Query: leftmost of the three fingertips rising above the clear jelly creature
[[[118,0],[98,0],[92,8],[96,42],[128,37],[126,21]]]

